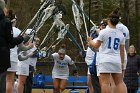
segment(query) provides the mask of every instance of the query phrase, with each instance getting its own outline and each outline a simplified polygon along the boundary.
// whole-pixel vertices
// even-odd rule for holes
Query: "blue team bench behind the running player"
[[[35,76],[36,77],[36,76]],[[36,78],[33,78],[33,89],[54,89],[54,86],[52,85],[53,79],[51,75],[45,76],[45,85],[43,87],[36,86]],[[85,89],[88,90],[88,86],[86,85],[87,82],[87,76],[79,76],[77,79],[75,76],[69,76],[68,83],[72,83],[71,85],[66,86],[66,89]],[[51,83],[51,84],[47,84]],[[83,83],[83,84],[82,84]]]

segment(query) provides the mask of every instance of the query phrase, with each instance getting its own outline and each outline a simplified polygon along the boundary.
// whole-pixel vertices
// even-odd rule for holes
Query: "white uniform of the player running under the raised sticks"
[[[53,78],[67,79],[69,76],[68,64],[72,65],[74,62],[68,55],[65,55],[63,60],[59,59],[58,53],[53,53],[52,56],[54,59]]]

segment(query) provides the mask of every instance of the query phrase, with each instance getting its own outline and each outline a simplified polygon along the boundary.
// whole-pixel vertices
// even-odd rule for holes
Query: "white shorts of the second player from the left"
[[[29,64],[26,62],[19,62],[16,74],[29,76]]]

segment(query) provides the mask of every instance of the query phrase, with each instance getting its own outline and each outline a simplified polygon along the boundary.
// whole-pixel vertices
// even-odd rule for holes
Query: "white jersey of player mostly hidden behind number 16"
[[[116,25],[116,28],[123,33],[125,41],[127,39],[130,39],[129,30],[128,30],[128,28],[125,25],[123,25],[122,23],[118,23]],[[125,59],[125,61],[127,61],[127,52],[126,52],[126,49],[124,49],[124,53],[125,53],[124,59]]]

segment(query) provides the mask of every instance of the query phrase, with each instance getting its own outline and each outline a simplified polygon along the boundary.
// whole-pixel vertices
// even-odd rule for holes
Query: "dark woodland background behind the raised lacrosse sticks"
[[[63,21],[65,24],[70,24],[70,31],[79,41],[78,33],[75,27],[71,24],[71,22],[74,22],[71,9],[72,2],[71,0],[56,0],[56,2],[60,1],[62,1],[67,11],[67,14],[63,16]],[[79,0],[76,1],[79,2]],[[84,0],[84,4],[84,11],[87,15],[89,15],[89,0]],[[130,44],[134,44],[136,46],[137,52],[140,53],[140,0],[91,0],[91,19],[96,25],[98,25],[103,18],[106,18],[107,15],[118,6],[122,11],[122,23],[124,23],[130,30]],[[17,27],[23,30],[38,11],[40,7],[40,0],[8,0],[8,7],[15,11],[18,17]],[[49,20],[45,23],[43,28],[41,28],[41,31],[38,35],[41,40],[51,25],[52,20]],[[82,29],[82,32],[84,32],[84,28]],[[47,44],[51,43],[54,38],[55,36]],[[61,42],[61,44],[62,43],[67,45],[68,55],[77,61],[83,61],[79,55],[78,48],[72,44],[72,42],[66,38]],[[61,44],[57,46],[57,49]]]

